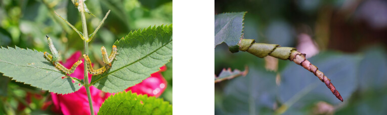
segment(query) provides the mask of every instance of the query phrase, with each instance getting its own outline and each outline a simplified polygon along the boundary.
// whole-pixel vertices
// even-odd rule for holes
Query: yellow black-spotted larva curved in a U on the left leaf
[[[50,62],[52,62],[55,67],[57,67],[59,70],[63,71],[64,73],[66,74],[71,74],[75,71],[76,67],[82,63],[81,60],[78,60],[77,62],[75,62],[72,67],[70,69],[67,69],[65,66],[63,66],[61,63],[59,63],[58,61],[53,61],[52,58],[53,56],[51,56],[49,53],[45,52],[44,53],[45,57],[47,60],[49,60]]]

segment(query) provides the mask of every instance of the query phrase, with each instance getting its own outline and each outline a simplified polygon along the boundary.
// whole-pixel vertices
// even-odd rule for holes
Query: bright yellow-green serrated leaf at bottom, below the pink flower
[[[172,105],[161,98],[129,91],[107,98],[98,114],[172,114]]]

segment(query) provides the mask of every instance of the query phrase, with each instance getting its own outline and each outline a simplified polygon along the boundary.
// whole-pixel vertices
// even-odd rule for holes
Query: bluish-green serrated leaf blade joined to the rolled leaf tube
[[[231,52],[238,52],[237,44],[242,37],[245,14],[246,12],[215,15],[215,47],[226,43]]]

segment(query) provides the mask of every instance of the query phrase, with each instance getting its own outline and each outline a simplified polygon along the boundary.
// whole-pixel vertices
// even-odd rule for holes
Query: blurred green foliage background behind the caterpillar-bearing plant
[[[95,65],[103,64],[100,48],[107,47],[107,52],[113,43],[124,37],[132,30],[143,29],[149,26],[172,23],[172,1],[137,1],[137,0],[88,0],[85,1],[89,10],[96,16],[86,14],[89,33],[93,32],[108,10],[111,10],[95,38],[89,44],[89,53]],[[0,46],[36,49],[41,52],[49,52],[46,34],[54,42],[55,47],[61,54],[60,60],[65,60],[74,51],[83,51],[82,40],[68,25],[54,14],[68,20],[78,30],[82,31],[80,13],[70,0],[35,0],[35,1],[0,1]],[[110,46],[110,47],[109,47]],[[1,55],[1,54],[0,54]],[[165,89],[160,98],[172,102],[172,64],[167,64],[168,88]],[[47,92],[40,89],[17,83],[9,79],[3,80],[1,75],[0,88],[0,114],[20,113],[46,113],[47,111],[36,111],[47,98]],[[7,78],[7,77],[6,77]],[[5,79],[5,78],[4,78]],[[8,88],[5,85],[8,83]],[[4,82],[4,83],[3,83]],[[8,89],[8,90],[5,90]],[[24,92],[16,94],[18,92]],[[32,101],[28,109],[17,111],[18,107],[25,101],[25,93],[42,95],[39,101]],[[22,95],[23,94],[23,95]],[[7,95],[7,96],[4,96]],[[13,98],[7,98],[15,96]],[[17,99],[17,98],[20,99]]]

